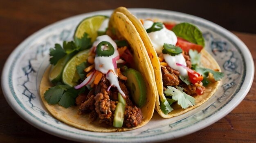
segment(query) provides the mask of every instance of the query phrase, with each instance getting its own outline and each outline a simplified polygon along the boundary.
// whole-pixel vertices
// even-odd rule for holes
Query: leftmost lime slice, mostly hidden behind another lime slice
[[[63,58],[61,58],[56,65],[52,65],[51,72],[49,74],[49,80],[52,83],[57,83],[61,81],[61,73],[66,65],[67,61],[72,58],[74,54],[67,54]]]

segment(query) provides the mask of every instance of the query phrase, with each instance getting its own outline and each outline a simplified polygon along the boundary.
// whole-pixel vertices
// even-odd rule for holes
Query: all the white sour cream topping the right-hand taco
[[[153,21],[145,20],[143,26],[145,29],[148,29],[153,24],[154,24]],[[177,36],[175,35],[175,33],[171,30],[168,30],[164,25],[163,27],[164,28],[162,28],[161,30],[148,33],[148,36],[152,41],[152,45],[155,48],[157,55],[162,53],[164,43],[168,43],[171,45],[176,45],[177,43]],[[176,63],[180,63],[186,66],[186,60],[182,54],[178,54],[175,56],[171,56],[169,54],[163,54],[163,56],[164,56],[164,60],[166,61],[169,67],[180,71],[180,75],[184,77],[188,77],[187,70],[184,69],[184,67],[176,65]]]

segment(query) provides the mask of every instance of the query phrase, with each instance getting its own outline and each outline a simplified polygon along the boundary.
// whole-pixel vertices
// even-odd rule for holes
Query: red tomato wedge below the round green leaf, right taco
[[[192,50],[197,50],[198,52],[200,52],[203,48],[202,45],[197,45],[197,44],[194,44],[194,43],[191,43],[189,41],[186,41],[185,39],[182,39],[182,38],[178,38],[178,41],[176,43],[176,46],[179,46],[180,48],[182,48],[182,50],[186,51],[186,52],[189,52],[189,49],[192,49]]]

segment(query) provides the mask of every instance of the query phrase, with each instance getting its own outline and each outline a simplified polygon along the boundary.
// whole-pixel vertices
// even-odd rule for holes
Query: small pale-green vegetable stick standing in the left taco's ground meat
[[[117,106],[115,108],[114,121],[113,121],[114,127],[121,128],[123,126],[124,111],[125,111],[125,105],[121,102],[117,103]]]

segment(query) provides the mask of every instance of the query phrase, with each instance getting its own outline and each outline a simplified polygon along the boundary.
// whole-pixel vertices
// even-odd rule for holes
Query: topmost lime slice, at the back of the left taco
[[[95,41],[98,36],[98,29],[107,18],[108,17],[104,15],[95,15],[85,18],[76,27],[74,37],[81,39],[83,34],[86,32],[92,38],[91,41]]]

